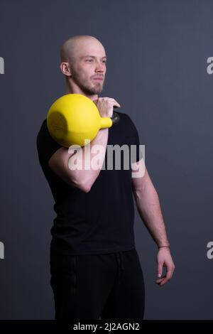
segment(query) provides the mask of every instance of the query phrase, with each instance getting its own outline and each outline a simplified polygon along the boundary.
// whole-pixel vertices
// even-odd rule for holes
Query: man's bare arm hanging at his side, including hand
[[[160,209],[158,193],[148,175],[143,158],[141,161],[132,164],[132,170],[134,172],[139,170],[139,168],[140,171],[144,171],[144,173],[142,173],[140,177],[131,179],[133,196],[141,219],[158,247],[160,247],[157,255],[158,277],[163,273],[163,266],[167,267],[166,276],[156,281],[157,284],[162,286],[172,278],[175,265],[170,255],[170,248],[163,247],[169,246],[168,236]]]

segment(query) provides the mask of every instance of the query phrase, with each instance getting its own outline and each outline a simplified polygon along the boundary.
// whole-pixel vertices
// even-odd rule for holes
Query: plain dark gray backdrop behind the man
[[[108,56],[100,96],[114,97],[146,145],[176,269],[155,284],[157,247],[136,212],[146,319],[211,319],[213,1],[0,1],[0,318],[53,319],[53,198],[35,137],[65,94],[59,48],[87,34]]]

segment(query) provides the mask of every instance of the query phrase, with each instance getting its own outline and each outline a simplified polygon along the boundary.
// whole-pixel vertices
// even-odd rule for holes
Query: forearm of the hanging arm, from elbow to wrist
[[[143,190],[135,190],[133,195],[139,215],[158,247],[168,246],[169,242],[160,209],[158,193],[154,186],[149,184]]]

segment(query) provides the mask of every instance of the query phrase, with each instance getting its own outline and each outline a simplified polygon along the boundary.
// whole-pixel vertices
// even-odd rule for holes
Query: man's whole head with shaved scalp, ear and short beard
[[[102,92],[107,56],[104,46],[97,38],[79,35],[67,39],[60,48],[60,59],[67,92],[92,98]]]

